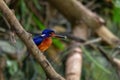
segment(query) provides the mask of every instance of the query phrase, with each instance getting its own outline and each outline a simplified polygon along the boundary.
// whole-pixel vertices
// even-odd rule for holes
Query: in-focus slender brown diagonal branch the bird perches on
[[[27,33],[22,25],[19,23],[14,13],[7,7],[3,0],[0,0],[0,11],[2,15],[6,18],[8,23],[16,31],[18,37],[25,43],[27,48],[31,51],[34,58],[40,63],[42,68],[45,70],[47,76],[51,80],[65,80],[53,69],[51,64],[47,61],[46,57],[39,51],[37,46],[34,44],[32,37]]]

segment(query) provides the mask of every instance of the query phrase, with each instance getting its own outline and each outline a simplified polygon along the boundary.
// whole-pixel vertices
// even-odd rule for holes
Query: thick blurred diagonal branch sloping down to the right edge
[[[112,34],[105,26],[104,20],[97,14],[91,12],[77,0],[48,0],[57,8],[70,22],[79,23],[81,20],[92,28],[98,36],[112,46],[120,44],[120,40]]]

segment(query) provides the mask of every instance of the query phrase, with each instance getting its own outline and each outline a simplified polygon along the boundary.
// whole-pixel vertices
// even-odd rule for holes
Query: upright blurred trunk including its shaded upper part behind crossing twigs
[[[81,26],[81,27],[79,27]],[[84,23],[74,25],[73,35],[86,40],[88,29]],[[73,42],[71,45],[80,44]],[[74,47],[66,60],[66,80],[80,80],[82,71],[82,50],[80,47]]]

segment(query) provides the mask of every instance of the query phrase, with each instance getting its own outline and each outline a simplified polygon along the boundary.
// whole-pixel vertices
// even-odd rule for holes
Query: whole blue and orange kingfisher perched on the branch
[[[52,37],[66,38],[66,36],[57,35],[52,29],[45,29],[41,35],[37,35],[33,38],[34,43],[40,49],[41,52],[47,50],[52,44]]]

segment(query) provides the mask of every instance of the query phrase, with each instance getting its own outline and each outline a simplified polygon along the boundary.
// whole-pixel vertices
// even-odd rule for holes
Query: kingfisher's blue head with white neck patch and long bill
[[[45,29],[42,31],[42,37],[48,38],[48,37],[58,37],[58,38],[66,38],[65,36],[57,35],[54,30],[51,29]]]

